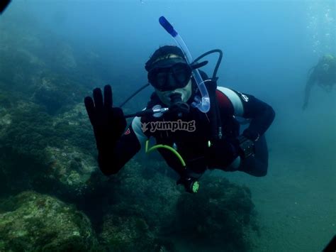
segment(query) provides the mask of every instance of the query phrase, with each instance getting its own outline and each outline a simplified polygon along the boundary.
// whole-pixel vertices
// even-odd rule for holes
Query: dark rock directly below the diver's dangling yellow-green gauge
[[[247,251],[247,234],[255,227],[250,190],[218,177],[204,176],[201,183],[196,194],[181,195],[174,236],[200,248],[212,244],[222,251]]]

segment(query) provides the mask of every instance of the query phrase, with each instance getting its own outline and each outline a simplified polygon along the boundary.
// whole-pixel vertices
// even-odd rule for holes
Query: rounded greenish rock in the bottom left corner
[[[36,192],[0,204],[0,251],[96,251],[89,219],[72,205]]]

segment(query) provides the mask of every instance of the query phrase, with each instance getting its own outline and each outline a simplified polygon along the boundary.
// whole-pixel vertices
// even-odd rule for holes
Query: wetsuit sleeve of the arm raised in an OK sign
[[[98,163],[101,172],[106,176],[116,174],[130,158],[138,153],[146,139],[147,136],[141,130],[140,117],[135,117],[113,150],[99,153]]]

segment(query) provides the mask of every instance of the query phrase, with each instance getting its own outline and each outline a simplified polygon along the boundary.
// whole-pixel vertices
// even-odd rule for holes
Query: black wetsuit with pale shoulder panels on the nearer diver
[[[218,87],[216,99],[220,111],[223,128],[221,141],[235,141],[240,134],[240,124],[235,116],[251,119],[247,130],[253,136],[255,155],[240,159],[233,163],[225,162],[225,153],[219,153],[215,158],[209,158],[208,141],[211,139],[211,125],[208,114],[191,107],[189,114],[178,118],[169,111],[162,115],[135,117],[132,124],[123,133],[113,148],[111,155],[99,155],[99,167],[105,175],[115,174],[135,153],[144,146],[145,141],[154,137],[157,144],[174,146],[184,158],[186,167],[192,172],[203,173],[207,168],[219,168],[225,171],[241,170],[254,176],[267,174],[268,151],[264,133],[274,120],[274,110],[268,104],[256,99],[250,94],[242,94],[225,87]],[[147,109],[153,106],[166,107],[154,93],[147,104]],[[172,123],[174,122],[174,123]],[[179,129],[172,127],[179,126]],[[171,150],[158,148],[167,164],[183,175],[181,161]]]

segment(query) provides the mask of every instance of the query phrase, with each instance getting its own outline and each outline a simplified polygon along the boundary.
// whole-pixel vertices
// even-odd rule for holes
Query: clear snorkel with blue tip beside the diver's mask
[[[179,48],[181,48],[182,52],[184,53],[186,62],[191,65],[191,63],[193,62],[193,58],[191,57],[191,54],[179,33],[177,33],[174,27],[169,23],[169,21],[167,21],[166,18],[164,18],[164,16],[161,16],[159,18],[159,23],[170,35],[172,35],[177,45],[179,45]],[[195,97],[195,102],[193,102],[191,105],[195,106],[201,112],[207,113],[210,109],[210,97],[208,94],[208,90],[206,89],[206,85],[204,84],[204,81],[202,80],[198,69],[194,69],[192,71],[192,74],[194,76],[198,89],[201,92],[202,99],[200,100],[198,97]]]

